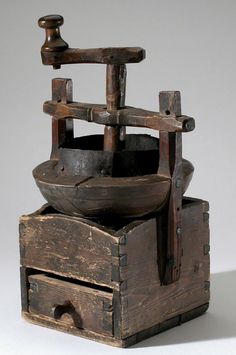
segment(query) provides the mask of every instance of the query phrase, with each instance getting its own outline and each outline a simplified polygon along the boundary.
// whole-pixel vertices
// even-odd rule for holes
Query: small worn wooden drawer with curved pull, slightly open
[[[47,317],[68,328],[113,335],[113,294],[76,283],[31,275],[29,313]]]

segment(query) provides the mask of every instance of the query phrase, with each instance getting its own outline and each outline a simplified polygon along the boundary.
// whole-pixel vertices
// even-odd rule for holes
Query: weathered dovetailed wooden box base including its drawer
[[[208,203],[185,198],[180,279],[159,278],[161,216],[104,226],[50,206],[20,221],[22,314],[32,323],[127,347],[209,304]]]

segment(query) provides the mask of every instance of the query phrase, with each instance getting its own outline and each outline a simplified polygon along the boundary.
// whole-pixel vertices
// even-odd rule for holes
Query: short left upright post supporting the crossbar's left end
[[[52,100],[62,103],[68,103],[73,100],[71,79],[57,78],[52,80]],[[58,159],[60,145],[73,139],[73,137],[73,119],[52,117],[52,151],[50,158]]]

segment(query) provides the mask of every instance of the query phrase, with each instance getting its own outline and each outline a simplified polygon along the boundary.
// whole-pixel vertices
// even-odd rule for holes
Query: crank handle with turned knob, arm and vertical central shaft
[[[38,23],[46,30],[46,40],[41,50],[43,64],[52,64],[54,69],[59,69],[61,64],[107,64],[107,111],[112,112],[124,107],[125,64],[143,60],[145,51],[142,48],[68,49],[68,44],[60,36],[59,27],[64,23],[62,16],[45,16],[40,18]],[[119,138],[122,140],[124,135],[124,127],[106,125],[104,150],[115,151]]]

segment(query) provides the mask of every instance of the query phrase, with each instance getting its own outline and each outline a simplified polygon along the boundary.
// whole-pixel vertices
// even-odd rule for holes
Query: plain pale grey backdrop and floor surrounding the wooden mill
[[[236,1],[40,0],[0,2],[1,354],[236,354]],[[42,103],[53,77],[71,77],[74,99],[105,102],[105,66],[41,64],[40,16],[62,14],[71,47],[142,46],[147,58],[128,65],[126,103],[158,110],[158,91],[180,90],[182,112],[196,119],[183,138],[195,165],[188,196],[211,206],[212,302],[178,329],[120,350],[32,326],[20,318],[18,217],[44,203],[32,169],[50,154],[50,118]],[[101,127],[77,123],[78,135]],[[136,130],[140,132],[140,130]],[[150,133],[152,133],[150,131]]]

